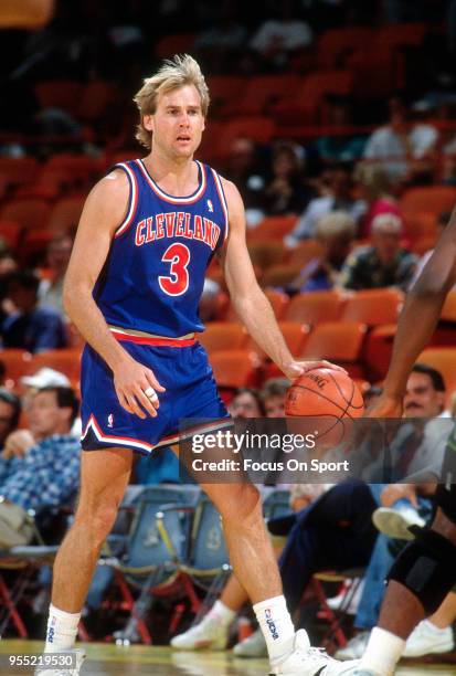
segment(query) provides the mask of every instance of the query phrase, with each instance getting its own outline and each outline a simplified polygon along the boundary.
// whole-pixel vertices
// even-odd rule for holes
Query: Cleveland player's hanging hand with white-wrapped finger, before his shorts
[[[165,392],[165,388],[153,371],[129,357],[116,366],[113,373],[114,387],[123,409],[142,420],[146,418],[145,411],[156,418],[157,409],[160,406],[157,393]],[[155,391],[155,395],[150,394],[150,389]],[[147,391],[149,397],[146,394]]]

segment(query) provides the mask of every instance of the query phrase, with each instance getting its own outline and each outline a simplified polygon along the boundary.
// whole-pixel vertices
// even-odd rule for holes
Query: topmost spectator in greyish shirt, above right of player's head
[[[283,0],[278,3],[277,13],[276,19],[266,19],[261,24],[250,42],[250,47],[266,67],[283,68],[294,52],[311,44],[312,31],[300,18],[301,12],[297,10],[295,0]]]

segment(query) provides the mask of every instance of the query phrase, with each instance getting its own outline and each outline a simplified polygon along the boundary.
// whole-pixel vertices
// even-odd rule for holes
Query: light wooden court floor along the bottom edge
[[[86,647],[85,676],[265,676],[265,659],[235,659],[224,653],[176,653],[168,647],[136,645],[118,647],[91,643]],[[35,641],[0,641],[0,675],[32,674],[30,667],[12,667],[9,655],[36,655],[42,648]],[[456,676],[456,665],[426,664],[401,666],[397,676]]]

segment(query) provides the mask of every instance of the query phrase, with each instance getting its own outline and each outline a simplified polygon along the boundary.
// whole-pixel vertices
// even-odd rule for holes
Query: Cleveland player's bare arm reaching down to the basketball
[[[280,332],[271,303],[259,288],[245,242],[244,205],[237,188],[223,181],[230,214],[224,273],[233,306],[251,336],[290,380],[304,371],[330,367],[328,361],[296,361]]]

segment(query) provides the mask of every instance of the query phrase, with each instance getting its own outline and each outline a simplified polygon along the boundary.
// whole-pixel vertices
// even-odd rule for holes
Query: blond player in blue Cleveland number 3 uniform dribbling
[[[288,379],[327,362],[296,362],[259,289],[236,188],[193,160],[209,105],[198,63],[176,56],[135,98],[142,160],[117,165],[87,198],[64,285],[66,313],[87,341],[82,361],[81,497],[54,564],[46,652],[71,649],[102,543],[116,518],[135,452],[182,439],[179,420],[227,425],[194,332],[214,254],[248,331]],[[331,366],[331,365],[329,365]],[[333,367],[337,368],[337,367]],[[344,674],[347,664],[295,634],[252,485],[203,485],[220,510],[230,560],[264,632],[271,673]],[[78,674],[83,654],[77,653]],[[46,676],[52,672],[46,670]]]

